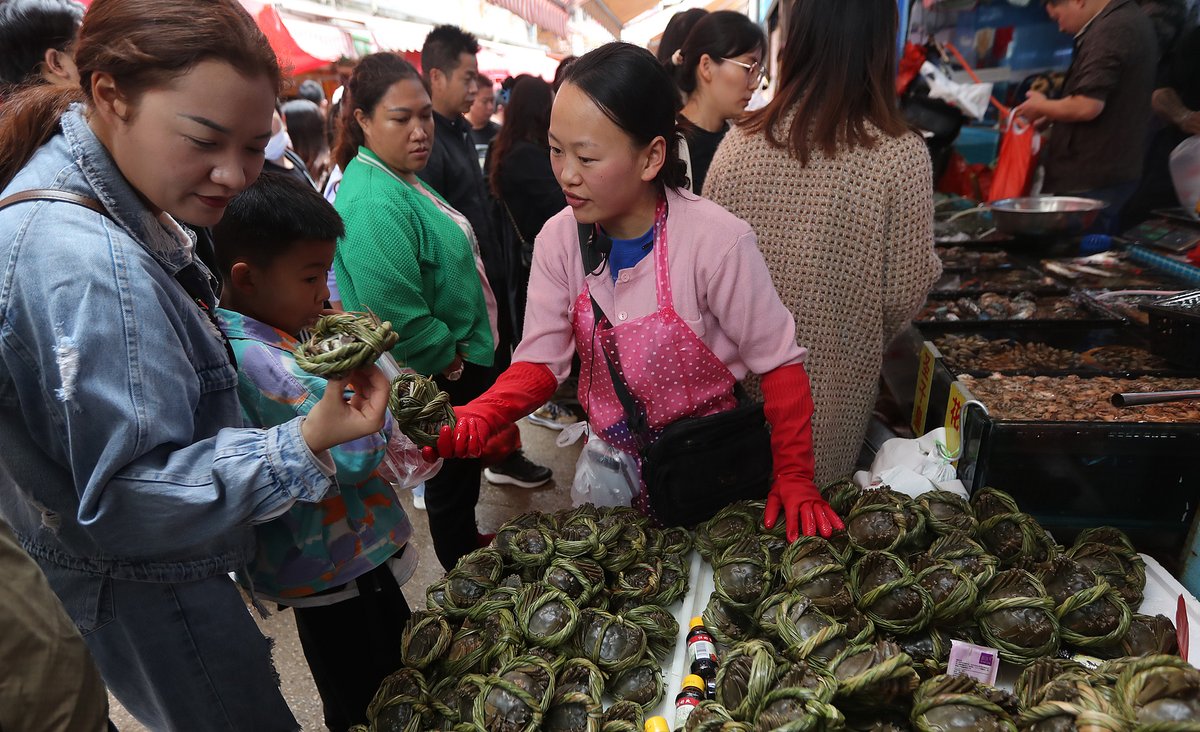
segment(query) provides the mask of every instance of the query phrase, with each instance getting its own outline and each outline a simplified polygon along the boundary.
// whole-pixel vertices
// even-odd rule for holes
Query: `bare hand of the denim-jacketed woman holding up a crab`
[[[349,386],[350,396],[346,398]],[[391,385],[379,368],[360,368],[344,379],[329,379],[325,395],[300,425],[308,449],[323,452],[335,445],[383,430]]]

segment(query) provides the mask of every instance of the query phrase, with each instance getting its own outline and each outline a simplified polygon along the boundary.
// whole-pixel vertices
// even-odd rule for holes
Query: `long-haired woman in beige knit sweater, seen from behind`
[[[929,154],[900,116],[895,0],[794,0],[774,101],[713,158],[704,196],[758,235],[810,349],[818,485],[854,467],[883,349],[941,274]]]

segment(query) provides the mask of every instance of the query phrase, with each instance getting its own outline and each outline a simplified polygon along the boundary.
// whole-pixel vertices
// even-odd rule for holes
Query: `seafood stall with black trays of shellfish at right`
[[[968,488],[1010,486],[1056,536],[1112,524],[1186,572],[1200,402],[1110,398],[1200,386],[1188,313],[1153,305],[1200,270],[1140,229],[1080,256],[1078,232],[1008,235],[968,205],[940,205],[944,275],[884,366],[911,428],[950,428]]]

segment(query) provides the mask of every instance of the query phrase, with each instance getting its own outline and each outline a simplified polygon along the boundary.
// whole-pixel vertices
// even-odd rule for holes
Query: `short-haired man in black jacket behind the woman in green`
[[[421,47],[421,73],[433,100],[433,150],[418,175],[458,210],[475,230],[480,258],[498,306],[496,373],[508,367],[512,355],[514,258],[500,245],[492,226],[492,205],[479,167],[470,124],[463,116],[479,92],[479,41],[456,25],[439,25]],[[443,473],[445,468],[443,467]],[[530,462],[518,449],[484,470],[490,482],[538,487],[551,479],[550,468]],[[426,493],[431,518],[434,493]],[[458,506],[458,510],[462,510]],[[474,505],[472,505],[474,511]]]

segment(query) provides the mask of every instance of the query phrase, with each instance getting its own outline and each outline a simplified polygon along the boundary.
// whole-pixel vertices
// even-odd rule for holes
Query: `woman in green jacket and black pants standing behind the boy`
[[[392,355],[455,403],[493,380],[496,300],[467,218],[416,172],[433,146],[433,106],[416,70],[390,53],[359,62],[349,83],[337,162],[346,172],[335,208],[346,236],[334,271],[346,310],[372,310],[400,335]],[[448,570],[476,548],[479,460],[448,461],[428,481],[426,505]]]

